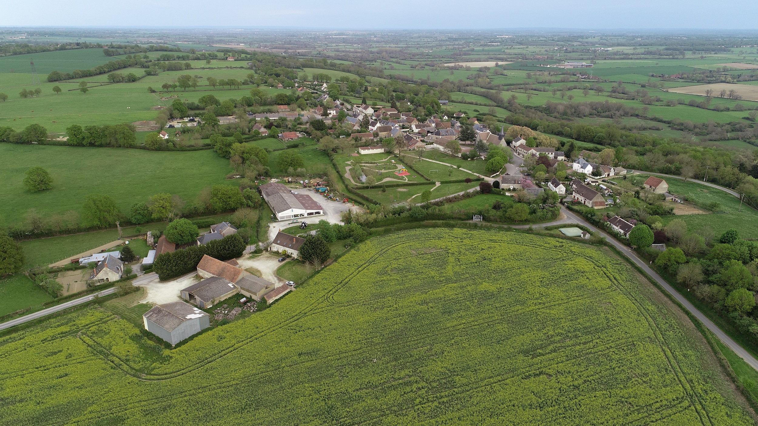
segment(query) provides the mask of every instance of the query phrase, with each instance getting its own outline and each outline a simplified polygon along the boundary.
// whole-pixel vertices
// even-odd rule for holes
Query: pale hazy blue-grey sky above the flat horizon
[[[5,0],[0,26],[758,29],[756,0]]]

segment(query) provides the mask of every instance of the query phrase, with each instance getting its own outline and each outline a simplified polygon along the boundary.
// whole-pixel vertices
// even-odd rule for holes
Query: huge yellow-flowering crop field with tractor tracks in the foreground
[[[375,237],[177,349],[83,309],[0,357],[7,424],[753,424],[626,264],[521,233]]]

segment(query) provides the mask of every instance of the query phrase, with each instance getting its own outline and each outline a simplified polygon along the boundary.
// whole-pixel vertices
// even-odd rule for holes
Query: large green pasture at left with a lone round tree
[[[0,158],[5,161],[0,168],[0,199],[4,200],[0,217],[8,224],[22,221],[30,209],[46,217],[79,211],[90,193],[110,195],[128,214],[133,203],[158,193],[175,194],[192,203],[205,186],[235,184],[226,180],[233,171],[229,161],[212,150],[154,152],[2,143]],[[26,171],[35,166],[49,171],[54,180],[51,190],[30,193],[23,186]]]

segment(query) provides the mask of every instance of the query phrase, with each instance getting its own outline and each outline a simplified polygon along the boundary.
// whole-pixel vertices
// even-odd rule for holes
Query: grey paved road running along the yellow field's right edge
[[[703,182],[700,182],[703,183]],[[719,189],[720,186],[716,186]],[[637,254],[634,253],[628,246],[625,246],[622,243],[619,243],[619,241],[615,240],[612,236],[609,236],[608,234],[604,233],[602,230],[597,229],[597,227],[592,226],[587,221],[584,220],[584,218],[581,218],[579,215],[575,215],[574,212],[569,211],[568,208],[565,208],[561,206],[561,211],[568,217],[575,220],[575,223],[577,224],[583,224],[584,226],[590,228],[590,230],[593,230],[594,232],[600,233],[600,235],[603,235],[606,237],[606,240],[608,240],[609,243],[613,244],[616,249],[619,249],[620,252],[624,253],[626,257],[630,258],[632,262],[637,264],[640,268],[642,268],[647,274],[650,275],[650,277],[653,277],[653,280],[656,280],[661,287],[663,287],[667,292],[669,292],[674,298],[681,303],[682,306],[684,306],[684,309],[687,309],[689,312],[692,313],[692,315],[695,316],[700,322],[705,325],[708,330],[711,330],[713,334],[716,334],[716,337],[719,337],[719,339],[724,342],[726,346],[729,346],[731,350],[735,351],[735,353],[740,356],[741,359],[744,359],[745,362],[750,364],[753,368],[758,370],[758,359],[756,359],[754,356],[750,355],[749,352],[747,352],[745,349],[743,349],[742,346],[740,346],[737,342],[734,340],[731,340],[731,337],[728,337],[716,324],[713,324],[713,321],[709,320],[708,317],[703,315],[703,312],[700,312],[697,308],[692,305],[688,301],[688,299],[685,299],[684,296],[679,294],[678,291],[674,290],[673,287],[669,285],[669,283],[666,282],[662,277],[660,277],[659,274],[656,274],[656,271],[653,271],[650,269],[650,267],[647,265],[647,262],[642,260],[641,258],[637,257]]]

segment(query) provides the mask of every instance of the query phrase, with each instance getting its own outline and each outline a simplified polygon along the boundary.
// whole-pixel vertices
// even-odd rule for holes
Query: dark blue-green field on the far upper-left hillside
[[[50,71],[70,73],[73,70],[94,68],[113,60],[113,58],[105,56],[102,49],[74,49],[11,55],[0,57],[0,73],[29,73],[31,77],[30,61],[34,61],[39,80],[45,81]],[[31,79],[29,83],[31,83]]]

